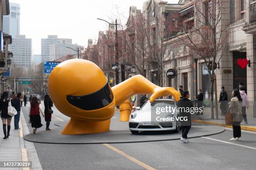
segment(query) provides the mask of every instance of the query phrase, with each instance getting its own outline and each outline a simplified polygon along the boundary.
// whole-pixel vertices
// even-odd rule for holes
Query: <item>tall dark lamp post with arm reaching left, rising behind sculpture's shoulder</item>
[[[102,20],[100,18],[97,18],[97,20]],[[117,26],[119,25],[117,23],[117,19],[115,19],[115,24],[111,24],[106,20],[102,20],[105,21],[106,23],[108,23],[109,25],[115,25],[115,64],[118,65],[118,29]],[[123,74],[124,74],[124,66],[121,65],[121,82],[123,82]],[[115,68],[115,84],[118,85],[119,84],[119,72],[118,72],[118,67]]]

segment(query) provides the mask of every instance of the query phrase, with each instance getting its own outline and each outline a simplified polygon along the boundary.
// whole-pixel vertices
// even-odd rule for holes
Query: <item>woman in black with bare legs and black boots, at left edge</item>
[[[0,99],[0,109],[1,109],[1,119],[3,122],[3,133],[4,139],[9,138],[10,136],[10,123],[12,121],[12,117],[8,115],[8,103],[10,102],[8,92],[3,92]],[[6,120],[7,120],[7,134],[6,134]]]

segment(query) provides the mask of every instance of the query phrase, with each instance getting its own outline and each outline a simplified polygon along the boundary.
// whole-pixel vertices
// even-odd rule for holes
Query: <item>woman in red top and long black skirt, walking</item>
[[[31,122],[31,126],[33,128],[33,133],[37,133],[36,130],[43,126],[41,124],[40,112],[44,117],[44,111],[42,110],[42,107],[36,96],[32,97],[31,105],[29,106],[28,110],[29,110],[28,116]]]

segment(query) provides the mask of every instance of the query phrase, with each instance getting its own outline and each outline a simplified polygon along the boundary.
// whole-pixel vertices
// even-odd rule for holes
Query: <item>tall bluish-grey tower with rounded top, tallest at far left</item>
[[[20,5],[10,2],[10,15],[3,16],[3,32],[12,35],[20,35]]]

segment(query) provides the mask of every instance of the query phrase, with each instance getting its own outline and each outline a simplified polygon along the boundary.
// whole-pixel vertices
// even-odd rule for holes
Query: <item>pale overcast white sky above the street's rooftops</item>
[[[41,38],[58,35],[87,47],[108,25],[97,18],[120,19],[124,25],[130,6],[142,10],[146,0],[9,0],[20,4],[20,34],[32,38],[32,53],[41,54]],[[166,0],[167,1],[167,0]],[[177,3],[178,0],[168,0]]]

